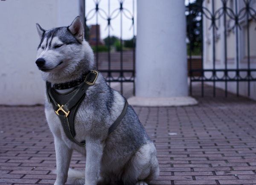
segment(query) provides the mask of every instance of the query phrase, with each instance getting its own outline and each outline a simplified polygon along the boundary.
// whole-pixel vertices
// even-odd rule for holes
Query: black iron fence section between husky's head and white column
[[[90,1],[90,5],[93,2],[93,6],[88,6]],[[125,4],[129,1],[132,3],[132,6],[126,7]],[[82,2],[82,3],[81,3]],[[135,91],[135,28],[134,28],[134,0],[81,0],[81,4],[84,3],[84,7],[81,8],[82,14],[85,14],[85,39],[92,40],[89,38],[93,33],[88,28],[88,22],[94,19],[94,28],[95,28],[95,37],[93,38],[93,45],[94,45],[94,52],[95,52],[95,62],[96,62],[96,69],[102,72],[105,76],[106,81],[111,84],[111,82],[119,82],[121,84],[120,92],[123,92],[123,83],[130,82],[133,83],[134,91]],[[113,9],[111,3],[117,3],[119,7]],[[104,4],[103,4],[104,3]],[[102,6],[103,4],[103,6]],[[87,9],[88,8],[88,9]],[[83,10],[84,9],[84,10]],[[83,12],[84,11],[84,12]],[[99,24],[99,19],[104,20],[104,23],[101,21],[101,25]],[[113,52],[111,46],[111,38],[113,35],[111,31],[116,29],[116,25],[113,25],[113,20],[119,19],[119,46],[118,51]],[[124,40],[123,40],[123,20],[129,20],[130,29],[129,31],[132,32],[133,36],[131,38],[131,47],[130,50],[124,50]],[[91,24],[91,23],[90,23]],[[105,32],[108,32],[107,38],[105,38],[105,43],[102,43],[102,38],[100,38],[100,30],[103,29]],[[107,51],[105,53],[100,52],[102,48],[102,44],[107,46]],[[92,44],[91,44],[92,45]],[[129,56],[128,56],[129,55]],[[104,58],[105,57],[105,58]],[[126,64],[125,58],[131,58],[131,61]],[[101,60],[101,58],[103,58]],[[119,58],[119,59],[117,59]],[[102,64],[104,63],[104,64]],[[117,64],[118,63],[118,64]]]

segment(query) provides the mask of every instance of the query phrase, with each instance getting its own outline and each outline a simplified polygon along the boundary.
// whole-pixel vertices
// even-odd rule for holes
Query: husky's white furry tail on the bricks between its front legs
[[[57,171],[52,171],[56,174]],[[67,184],[70,185],[84,185],[85,183],[85,172],[81,170],[69,169],[67,173]]]

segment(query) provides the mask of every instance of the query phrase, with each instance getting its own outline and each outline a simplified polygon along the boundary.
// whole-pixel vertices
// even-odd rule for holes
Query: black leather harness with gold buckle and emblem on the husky
[[[98,72],[90,71],[87,74],[85,80],[81,83],[81,85],[78,88],[65,95],[58,94],[57,91],[54,88],[52,88],[51,83],[46,82],[48,101],[52,103],[55,113],[61,120],[61,124],[67,138],[70,139],[72,142],[75,142],[79,146],[85,146],[86,144],[85,141],[77,142],[76,139],[74,139],[74,137],[76,136],[74,125],[76,111],[79,107],[79,104],[85,97],[86,90],[88,89],[88,87],[94,84],[97,76]],[[110,134],[121,122],[122,118],[125,116],[127,107],[128,102],[125,101],[125,106],[122,110],[122,113],[111,125],[111,127],[109,127],[108,134]]]

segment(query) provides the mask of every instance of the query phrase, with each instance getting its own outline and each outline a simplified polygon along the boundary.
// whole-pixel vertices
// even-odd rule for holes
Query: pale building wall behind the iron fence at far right
[[[221,0],[203,2],[204,69],[228,69],[225,78],[234,80],[229,81],[227,87],[225,79],[216,82],[216,87],[256,99],[256,82],[253,81],[256,78],[256,71],[253,71],[256,69],[256,0],[228,0],[226,3],[224,12]],[[210,78],[212,73],[205,72],[205,75]],[[216,75],[222,78],[224,71]]]

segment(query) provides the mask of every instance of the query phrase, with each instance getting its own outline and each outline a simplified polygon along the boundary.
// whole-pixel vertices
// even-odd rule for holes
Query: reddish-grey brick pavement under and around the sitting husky
[[[195,89],[195,88],[194,88]],[[192,107],[134,107],[157,148],[151,185],[256,185],[256,102],[197,90]],[[43,106],[0,106],[0,184],[52,185],[55,151]],[[73,154],[70,164],[83,169]]]

